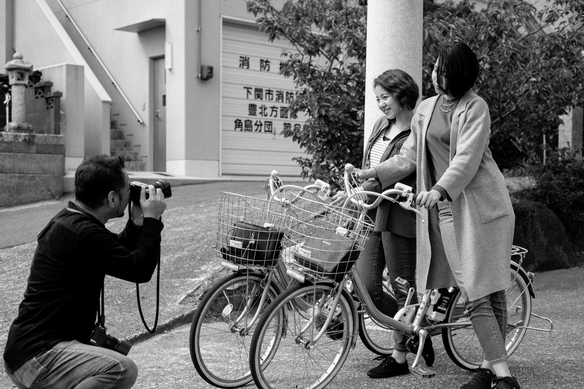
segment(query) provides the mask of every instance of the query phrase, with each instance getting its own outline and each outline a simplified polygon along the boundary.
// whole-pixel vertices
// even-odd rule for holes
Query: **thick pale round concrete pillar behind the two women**
[[[367,64],[365,76],[365,139],[381,113],[373,79],[388,69],[408,72],[422,93],[422,0],[367,2]]]

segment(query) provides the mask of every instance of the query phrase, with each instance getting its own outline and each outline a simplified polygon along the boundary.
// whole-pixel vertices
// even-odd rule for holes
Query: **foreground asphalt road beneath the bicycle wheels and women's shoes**
[[[554,331],[528,330],[509,366],[522,388],[582,388],[584,387],[584,268],[562,269],[536,274],[532,311],[554,321]],[[546,323],[531,317],[533,327],[548,328]],[[183,325],[134,346],[131,358],[138,365],[136,389],[199,389],[213,388],[194,370],[189,353],[190,325]],[[367,389],[437,389],[459,388],[472,377],[454,365],[444,351],[440,336],[434,339],[436,377],[418,379],[413,374],[392,379],[373,380],[365,375],[376,366],[374,355],[361,342],[349,353],[345,365],[328,388]],[[413,362],[409,356],[409,363]],[[255,387],[250,384],[247,387]]]

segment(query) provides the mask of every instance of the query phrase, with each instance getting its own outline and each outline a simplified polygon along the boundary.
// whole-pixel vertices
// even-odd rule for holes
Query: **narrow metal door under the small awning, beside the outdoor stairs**
[[[154,60],[154,171],[166,171],[166,71]]]

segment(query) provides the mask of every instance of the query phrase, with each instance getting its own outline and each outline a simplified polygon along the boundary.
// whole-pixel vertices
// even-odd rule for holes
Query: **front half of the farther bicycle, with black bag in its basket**
[[[238,387],[252,380],[250,335],[262,311],[291,281],[279,257],[290,206],[287,194],[308,195],[318,202],[331,194],[330,185],[321,180],[304,188],[284,185],[275,170],[265,189],[265,200],[221,194],[216,252],[232,273],[201,296],[189,337],[195,369],[216,387]]]

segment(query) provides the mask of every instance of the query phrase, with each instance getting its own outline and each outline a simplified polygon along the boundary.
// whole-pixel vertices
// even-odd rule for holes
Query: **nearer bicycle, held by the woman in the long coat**
[[[417,211],[410,208],[414,194],[406,185],[396,185],[395,189],[385,191],[383,194],[352,192],[348,184],[351,167],[347,164],[345,170],[345,187],[349,198],[345,201],[343,208],[349,202],[356,204],[359,209],[373,208],[383,198],[398,202],[397,199],[391,197],[396,195],[398,198],[405,199],[404,202],[399,202],[401,206]],[[357,196],[363,194],[378,198],[373,204],[367,205],[364,201],[356,199]],[[334,208],[332,210],[343,212]],[[355,223],[352,227],[351,233],[354,235],[351,239],[354,242],[354,251],[358,251],[367,228],[363,225],[364,213],[360,212],[355,216],[351,220]],[[356,345],[359,328],[358,314],[363,317],[363,313],[368,314],[374,325],[383,330],[381,331],[383,336],[376,339],[381,339],[381,341],[389,339],[391,331],[404,334],[407,339],[406,347],[415,353],[412,372],[419,377],[434,376],[432,370],[419,363],[427,336],[438,332],[442,332],[444,347],[458,366],[464,369],[475,369],[481,365],[482,349],[475,341],[474,330],[465,313],[460,290],[457,288],[441,291],[426,290],[419,304],[409,304],[415,291],[409,288],[407,283],[398,282],[398,285],[402,285],[401,291],[408,294],[406,306],[399,310],[395,317],[385,316],[371,303],[358,271],[352,271],[350,268],[331,271],[330,264],[324,260],[325,257],[321,254],[322,251],[326,251],[324,239],[318,241],[318,234],[315,235],[315,231],[320,229],[336,233],[339,226],[335,226],[334,221],[331,224],[331,226],[314,226],[314,230],[306,233],[307,226],[303,223],[293,223],[290,219],[287,222],[287,228],[291,230],[291,233],[287,234],[284,245],[294,253],[287,272],[302,283],[287,289],[277,297],[256,325],[251,342],[249,365],[253,380],[259,388],[325,387],[341,369],[350,348]],[[346,226],[340,227],[341,232],[345,234],[343,238],[349,236],[345,232]],[[329,247],[332,247],[331,236],[332,234],[328,236]],[[346,239],[338,238],[339,242],[343,240]],[[336,246],[339,244],[342,245],[338,243]],[[513,255],[519,255],[521,261],[526,252],[524,249],[516,248]],[[346,253],[343,255],[351,257]],[[512,293],[509,293],[507,297],[511,299],[506,344],[509,354],[515,351],[525,331],[531,328],[527,325],[533,314],[531,313],[531,297],[534,296],[531,286],[533,274],[525,272],[520,264],[515,262],[511,265],[511,274]],[[446,310],[442,312],[442,316],[437,310],[437,307],[443,303],[439,292],[443,292],[446,297],[451,295],[451,298],[446,300],[446,304],[443,304]],[[308,309],[298,307],[294,304],[294,301],[298,299],[310,301],[312,306]],[[551,331],[553,324],[549,319],[543,319],[550,323],[550,330],[533,329]],[[371,334],[371,332],[368,333]],[[381,352],[384,351],[383,344],[375,340],[371,344],[379,346]],[[390,353],[388,349],[385,348],[386,353]]]

